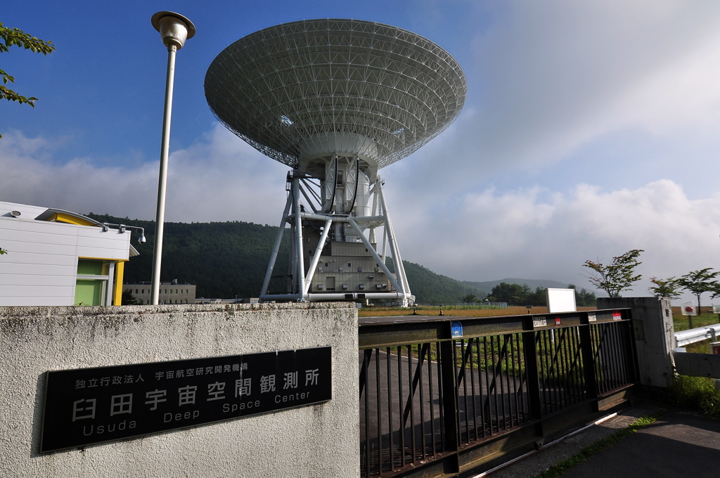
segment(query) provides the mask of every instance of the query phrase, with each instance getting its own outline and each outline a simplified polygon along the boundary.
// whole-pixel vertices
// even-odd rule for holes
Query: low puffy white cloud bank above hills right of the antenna
[[[486,189],[442,204],[433,217],[400,215],[394,222],[403,256],[457,279],[523,277],[590,287],[585,260],[609,262],[639,248],[645,280],[634,293],[641,296],[649,294],[652,276],[720,262],[720,195],[690,200],[669,180],[633,190],[580,184],[567,195],[547,192]],[[418,222],[429,225],[420,230]]]

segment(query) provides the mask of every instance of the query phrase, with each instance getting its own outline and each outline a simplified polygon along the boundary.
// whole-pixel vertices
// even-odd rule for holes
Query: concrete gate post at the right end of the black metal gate
[[[635,335],[639,380],[667,388],[675,376],[675,331],[670,299],[665,297],[598,297],[598,309],[629,308]]]

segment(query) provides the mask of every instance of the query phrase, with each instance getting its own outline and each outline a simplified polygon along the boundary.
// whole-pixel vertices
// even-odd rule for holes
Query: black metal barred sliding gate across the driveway
[[[636,382],[629,310],[361,319],[364,477],[441,477],[527,446]]]

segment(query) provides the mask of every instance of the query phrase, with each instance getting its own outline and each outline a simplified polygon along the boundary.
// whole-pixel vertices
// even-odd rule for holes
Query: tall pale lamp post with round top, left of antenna
[[[153,249],[153,283],[150,303],[158,305],[160,295],[160,265],[163,258],[163,229],[165,226],[165,189],[168,179],[168,150],[170,149],[170,117],[173,107],[173,82],[175,78],[175,53],[185,40],[194,37],[195,25],[186,17],[174,12],[158,12],[150,19],[160,32],[163,45],[168,48],[168,74],[165,84],[165,112],[163,114],[163,139],[160,150],[160,179],[158,181],[158,210],[155,219],[155,248]]]

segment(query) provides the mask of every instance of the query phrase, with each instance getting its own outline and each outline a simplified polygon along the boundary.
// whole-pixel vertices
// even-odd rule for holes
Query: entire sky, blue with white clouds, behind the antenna
[[[177,55],[168,221],[279,222],[287,167],[215,120],[205,71],[261,28],[351,17],[428,37],[467,76],[454,125],[380,171],[403,258],[589,287],[585,259],[642,248],[637,295],[652,276],[720,269],[716,1],[11,2],[0,21],[58,50],[0,55],[39,98],[0,104],[0,200],[154,219],[160,10],[197,27]]]

